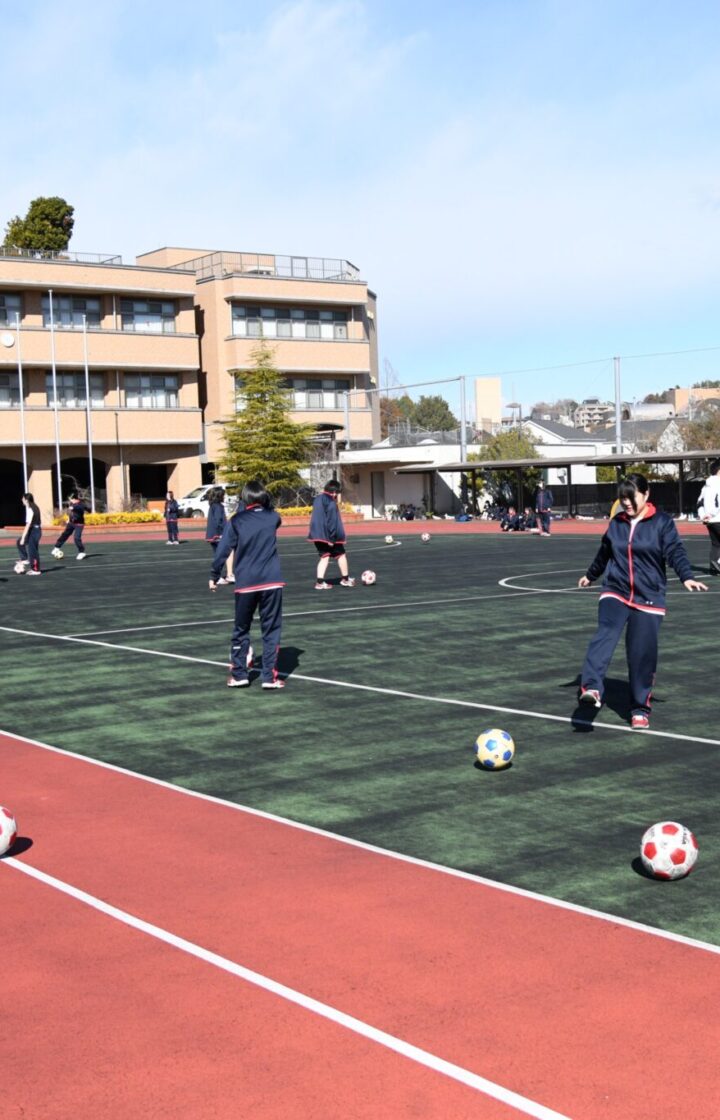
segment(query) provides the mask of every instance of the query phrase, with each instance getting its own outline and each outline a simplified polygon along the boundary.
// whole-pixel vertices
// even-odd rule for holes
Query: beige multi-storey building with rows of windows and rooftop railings
[[[99,505],[209,480],[259,338],[293,416],[377,438],[375,297],[344,261],[162,249],[133,265],[0,249],[0,524],[75,483]],[[242,376],[242,372],[240,374]],[[58,467],[59,464],[59,467]]]

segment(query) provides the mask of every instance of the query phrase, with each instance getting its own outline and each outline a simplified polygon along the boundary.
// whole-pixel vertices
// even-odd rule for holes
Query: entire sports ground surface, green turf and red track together
[[[35,580],[0,551],[11,1117],[719,1114],[698,1071],[720,1042],[720,588],[671,578],[630,731],[621,650],[606,707],[576,703],[596,539],[423,528],[358,526],[377,582],[329,592],[281,541],[270,693],[225,688],[233,596],[203,541],[46,545]],[[505,772],[474,765],[486,727],[515,739]],[[700,843],[673,884],[637,859],[664,819]],[[692,1042],[648,1076],[642,1035],[668,1024]]]

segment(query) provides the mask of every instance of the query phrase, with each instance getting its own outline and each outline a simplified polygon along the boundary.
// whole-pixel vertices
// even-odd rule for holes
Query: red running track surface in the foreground
[[[527,1114],[122,925],[19,864],[573,1120],[720,1114],[720,955],[710,949],[11,736],[0,750],[0,802],[31,840],[0,866],[6,1114]]]

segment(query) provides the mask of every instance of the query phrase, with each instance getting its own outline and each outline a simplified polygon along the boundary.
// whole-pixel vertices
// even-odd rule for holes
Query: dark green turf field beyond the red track
[[[205,542],[91,542],[82,563],[72,548],[50,560],[46,544],[41,579],[13,576],[15,552],[2,550],[0,725],[720,944],[720,588],[690,595],[672,576],[652,721],[666,734],[616,730],[628,718],[621,646],[607,706],[583,730],[569,720],[597,595],[573,588],[598,540],[436,535],[423,544],[420,531],[398,545],[352,539],[352,572],[372,568],[377,584],[327,592],[314,590],[311,547],[281,542],[282,692],[225,687],[233,592],[207,591]],[[704,570],[707,541],[686,547]],[[84,641],[57,641],[71,635]],[[493,726],[516,744],[503,773],[474,765],[475,738]],[[638,874],[639,838],[662,819],[699,838],[686,880]]]

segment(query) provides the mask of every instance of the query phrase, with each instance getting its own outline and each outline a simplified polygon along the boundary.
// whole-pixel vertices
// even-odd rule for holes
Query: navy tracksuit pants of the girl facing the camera
[[[597,689],[600,697],[602,696],[605,674],[625,628],[632,710],[649,712],[657,669],[657,637],[662,620],[662,615],[636,610],[619,599],[600,599],[598,629],[588,646],[580,675],[582,687]]]

